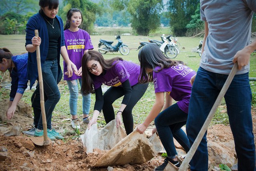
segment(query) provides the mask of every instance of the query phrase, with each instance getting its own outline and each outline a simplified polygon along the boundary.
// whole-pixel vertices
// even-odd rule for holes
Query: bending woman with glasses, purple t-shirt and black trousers
[[[130,134],[133,131],[132,109],[148,87],[148,83],[138,83],[140,66],[119,57],[105,60],[99,52],[90,50],[82,58],[82,73],[82,94],[96,95],[94,112],[88,129],[96,123],[101,110],[106,123],[114,120],[112,103],[124,96],[116,112],[116,127],[122,124],[122,115],[126,134]],[[110,86],[104,95],[102,95],[102,84]]]

